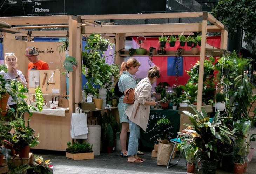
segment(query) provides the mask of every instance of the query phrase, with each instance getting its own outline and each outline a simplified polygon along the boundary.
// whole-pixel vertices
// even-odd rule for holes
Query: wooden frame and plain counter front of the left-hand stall
[[[12,39],[13,42],[16,37],[22,37],[23,42],[32,42],[33,37],[64,37],[66,38],[68,32],[69,39],[69,56],[77,57],[76,55],[76,32],[77,32],[77,17],[72,15],[63,16],[24,16],[24,17],[1,17],[4,21],[12,26],[12,28],[3,29],[4,42],[5,39]],[[50,29],[50,27],[59,27],[62,30]],[[65,27],[65,28],[64,28]],[[38,29],[39,28],[39,29]],[[42,30],[40,28],[48,28]],[[25,40],[24,40],[25,39]],[[20,41],[21,42],[21,41]],[[36,42],[35,42],[36,43]],[[18,46],[19,44],[17,44]],[[4,48],[7,45],[4,44]],[[19,48],[16,48],[19,49]],[[22,57],[23,52],[22,50]],[[56,51],[56,50],[54,50]],[[25,65],[25,62],[22,62]],[[70,137],[70,122],[71,114],[75,108],[75,85],[76,72],[69,72],[69,112],[65,113],[65,117],[48,116],[34,113],[31,117],[30,126],[35,128],[36,133],[40,133],[39,141],[41,141],[35,149],[47,149],[66,151],[67,142],[72,141]],[[25,115],[28,119],[28,115]]]

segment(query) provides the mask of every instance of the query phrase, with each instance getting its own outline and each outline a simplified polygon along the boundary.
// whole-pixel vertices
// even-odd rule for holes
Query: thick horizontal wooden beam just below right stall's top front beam
[[[175,24],[144,24],[144,25],[104,25],[84,26],[87,33],[166,33],[166,32],[199,32],[201,23],[175,23]]]

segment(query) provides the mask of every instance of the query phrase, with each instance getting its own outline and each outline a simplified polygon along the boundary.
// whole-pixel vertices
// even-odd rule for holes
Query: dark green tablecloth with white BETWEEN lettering
[[[146,131],[144,132],[140,129],[140,144],[142,143],[142,146],[154,148],[154,144],[157,144],[156,142],[158,142],[157,138],[159,138],[160,132],[157,132],[155,126],[161,118],[168,118],[171,121],[171,133],[168,135],[168,141],[177,137],[180,127],[180,114],[178,114],[178,110],[150,109]]]

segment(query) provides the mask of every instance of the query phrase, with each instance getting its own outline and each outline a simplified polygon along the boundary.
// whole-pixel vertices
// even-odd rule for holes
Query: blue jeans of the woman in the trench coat
[[[138,146],[139,146],[139,138],[140,138],[140,126],[136,125],[132,121],[129,120],[130,126],[130,138],[127,150],[127,156],[137,155]]]

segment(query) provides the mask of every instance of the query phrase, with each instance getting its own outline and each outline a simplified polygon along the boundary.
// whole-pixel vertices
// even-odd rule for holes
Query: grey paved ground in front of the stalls
[[[256,129],[251,133],[256,133]],[[251,147],[256,147],[256,141],[251,142]],[[128,163],[127,157],[120,157],[120,151],[113,153],[101,153],[89,160],[66,159],[66,152],[62,151],[42,151],[31,149],[36,155],[41,155],[45,160],[51,159],[54,174],[187,174],[185,160],[182,158],[179,163],[167,169],[166,166],[159,166],[156,157],[151,157],[151,152],[144,152],[140,155],[146,159],[143,163]],[[246,174],[256,173],[256,151],[252,161],[248,163]],[[177,157],[173,160],[175,163]],[[172,162],[172,163],[173,163]],[[201,174],[202,170],[195,171]],[[216,174],[230,174],[232,171],[217,170]]]

